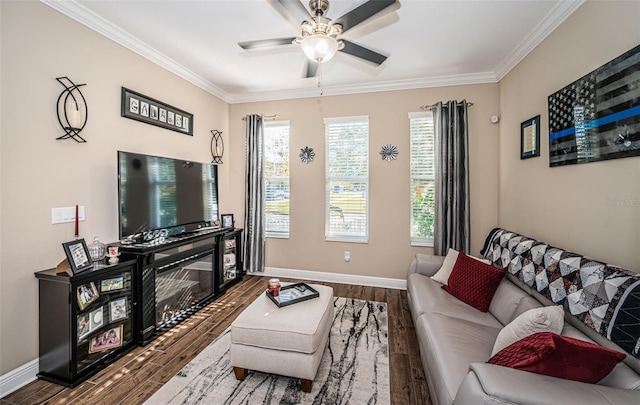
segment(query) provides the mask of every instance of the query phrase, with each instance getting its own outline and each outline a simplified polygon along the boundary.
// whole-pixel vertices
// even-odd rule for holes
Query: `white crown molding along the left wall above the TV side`
[[[161,52],[158,52],[147,43],[140,41],[138,38],[122,30],[118,26],[100,17],[93,11],[87,9],[75,0],[56,1],[56,0],[40,0],[41,3],[53,8],[78,21],[97,33],[111,39],[112,41],[124,46],[125,48],[137,53],[138,55],[150,60],[156,65],[176,74],[204,91],[229,102],[230,95],[218,88],[216,85],[205,79],[204,77],[192,72],[180,63],[169,58]]]

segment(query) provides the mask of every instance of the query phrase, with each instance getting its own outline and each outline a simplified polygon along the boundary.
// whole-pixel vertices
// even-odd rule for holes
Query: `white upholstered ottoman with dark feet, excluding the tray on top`
[[[320,297],[278,308],[261,294],[231,324],[231,365],[300,379],[311,392],[333,323],[333,288],[309,284]]]

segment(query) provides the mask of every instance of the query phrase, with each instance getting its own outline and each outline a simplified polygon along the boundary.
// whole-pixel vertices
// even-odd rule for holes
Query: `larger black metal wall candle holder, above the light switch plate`
[[[75,84],[66,76],[56,77],[56,80],[64,87],[64,91],[58,96],[56,112],[58,122],[65,132],[64,135],[56,139],[73,139],[80,143],[87,142],[80,136],[80,131],[87,125],[89,110],[87,101],[79,89],[80,86],[85,86],[86,83]]]

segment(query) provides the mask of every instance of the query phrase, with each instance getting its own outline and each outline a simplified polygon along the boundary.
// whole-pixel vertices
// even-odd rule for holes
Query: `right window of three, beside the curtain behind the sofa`
[[[431,112],[409,113],[411,244],[433,245],[435,140]]]

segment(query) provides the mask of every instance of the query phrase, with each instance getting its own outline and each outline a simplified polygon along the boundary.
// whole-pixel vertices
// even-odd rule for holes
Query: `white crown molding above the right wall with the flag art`
[[[533,29],[533,31],[496,68],[495,76],[502,80],[518,63],[533,51],[546,37],[576,11],[586,0],[560,1]]]

